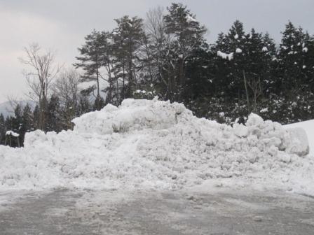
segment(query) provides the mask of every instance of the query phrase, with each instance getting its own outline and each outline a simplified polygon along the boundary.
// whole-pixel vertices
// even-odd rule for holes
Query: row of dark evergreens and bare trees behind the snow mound
[[[32,69],[26,78],[38,104],[31,129],[71,129],[81,113],[155,96],[219,122],[243,122],[251,112],[282,124],[314,118],[314,36],[292,22],[279,45],[238,20],[209,44],[205,26],[181,3],[115,22],[78,48],[81,76],[61,72],[38,45],[25,48],[21,61]]]

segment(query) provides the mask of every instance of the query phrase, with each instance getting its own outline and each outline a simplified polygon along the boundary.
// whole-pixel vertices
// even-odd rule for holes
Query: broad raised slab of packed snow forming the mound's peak
[[[182,104],[165,105],[157,99],[125,99],[121,107],[105,106],[101,111],[75,118],[74,131],[90,134],[113,134],[144,128],[165,129],[176,123],[177,115],[186,111]]]

